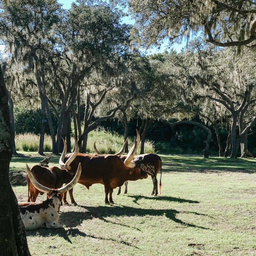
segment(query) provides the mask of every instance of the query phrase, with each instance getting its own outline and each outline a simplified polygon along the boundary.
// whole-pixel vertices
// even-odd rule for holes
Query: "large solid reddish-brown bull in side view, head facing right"
[[[120,187],[125,181],[136,181],[146,179],[147,174],[132,161],[138,144],[140,143],[140,134],[137,131],[137,139],[129,151],[127,158],[123,162],[117,155],[89,155],[78,153],[75,159],[70,163],[71,169],[76,169],[81,162],[82,173],[78,183],[86,186],[88,189],[95,183],[101,183],[105,188],[105,203],[113,204],[113,189]],[[63,163],[70,157],[66,155]],[[71,203],[75,203],[72,195],[72,189],[69,190]],[[109,199],[108,199],[109,195]],[[64,203],[67,203],[66,193],[63,195]]]

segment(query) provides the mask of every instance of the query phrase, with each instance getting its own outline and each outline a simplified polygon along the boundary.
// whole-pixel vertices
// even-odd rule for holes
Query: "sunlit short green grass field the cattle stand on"
[[[27,231],[31,254],[256,255],[256,160],[160,156],[161,196],[151,196],[150,177],[128,182],[127,195],[114,189],[113,206],[104,204],[101,184],[89,191],[77,184],[78,205],[60,208],[63,228]],[[10,170],[40,160],[13,158]],[[26,186],[13,189],[18,201],[27,200]]]

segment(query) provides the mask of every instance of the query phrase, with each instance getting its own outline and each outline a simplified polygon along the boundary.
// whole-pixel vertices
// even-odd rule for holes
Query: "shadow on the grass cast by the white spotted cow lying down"
[[[73,215],[76,214],[75,212],[72,213]],[[98,240],[106,240],[106,241],[113,241],[116,243],[121,243],[125,244],[127,246],[132,246],[134,248],[137,248],[141,250],[139,247],[132,245],[130,243],[127,243],[125,241],[118,241],[115,239],[111,238],[103,238],[103,237],[95,237],[86,234],[85,232],[80,231],[78,228],[71,228],[68,230],[65,230],[64,228],[56,228],[56,229],[46,229],[46,228],[41,228],[37,230],[27,230],[27,236],[42,236],[42,237],[48,237],[48,236],[59,236],[65,239],[67,242],[72,244],[72,241],[70,240],[70,237],[76,237],[76,236],[81,236],[81,237],[89,237],[89,238],[94,238]],[[48,248],[56,248],[55,243],[53,242],[53,245],[49,244]]]

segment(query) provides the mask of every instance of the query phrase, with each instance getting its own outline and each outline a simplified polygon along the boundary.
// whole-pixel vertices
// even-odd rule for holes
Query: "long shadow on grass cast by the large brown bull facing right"
[[[201,227],[201,226],[197,226],[194,224],[189,224],[189,223],[185,223],[183,221],[181,221],[180,219],[176,218],[176,214],[179,213],[192,213],[192,214],[196,214],[196,215],[203,215],[204,214],[200,214],[197,212],[179,212],[176,210],[169,210],[169,209],[162,209],[162,210],[155,210],[155,209],[141,209],[141,208],[133,208],[133,207],[127,207],[127,206],[112,206],[112,207],[108,207],[108,206],[98,206],[98,207],[90,207],[90,206],[84,206],[84,205],[79,205],[80,207],[88,210],[91,214],[92,217],[94,218],[99,218],[102,219],[104,222],[110,222],[105,219],[105,217],[110,217],[110,216],[115,216],[115,217],[122,217],[122,216],[163,216],[165,215],[167,218],[169,218],[170,220],[179,223],[181,225],[187,226],[187,227],[194,227],[194,228],[202,228],[202,229],[208,229],[205,227]],[[65,215],[65,212],[63,212],[63,214]],[[74,213],[75,214],[75,213]],[[114,223],[114,224],[118,224],[119,223]]]

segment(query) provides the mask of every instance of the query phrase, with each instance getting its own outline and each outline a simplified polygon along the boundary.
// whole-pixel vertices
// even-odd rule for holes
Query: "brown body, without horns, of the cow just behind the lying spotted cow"
[[[56,166],[42,167],[40,165],[34,165],[31,168],[31,172],[40,184],[53,189],[58,189],[64,183],[69,183],[74,177],[73,173],[69,173],[67,170],[60,169]],[[44,193],[33,186],[33,184],[29,181],[28,175],[26,180],[28,184],[28,202],[30,202],[30,200],[35,202],[38,194],[43,195]]]

